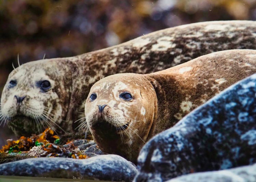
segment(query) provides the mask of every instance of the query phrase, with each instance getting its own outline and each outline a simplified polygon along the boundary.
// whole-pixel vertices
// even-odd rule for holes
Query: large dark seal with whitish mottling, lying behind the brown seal
[[[79,125],[75,121],[83,120],[79,112],[84,112],[90,87],[100,73],[101,77],[152,73],[211,52],[256,49],[255,30],[255,21],[194,23],[74,57],[25,63],[8,77],[0,123],[17,136],[41,133],[49,126],[58,134],[72,132]]]

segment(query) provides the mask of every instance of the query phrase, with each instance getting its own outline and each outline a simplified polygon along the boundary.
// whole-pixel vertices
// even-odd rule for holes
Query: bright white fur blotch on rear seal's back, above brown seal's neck
[[[173,37],[161,37],[156,44],[152,45],[151,51],[167,51],[169,48],[175,48],[176,44],[172,42]]]

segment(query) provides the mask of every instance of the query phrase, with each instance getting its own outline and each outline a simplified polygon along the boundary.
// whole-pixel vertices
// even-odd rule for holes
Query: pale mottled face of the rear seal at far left
[[[1,123],[7,123],[17,136],[29,136],[31,130],[39,133],[47,126],[63,130],[59,124],[68,108],[70,81],[63,70],[55,69],[57,62],[47,62],[18,67],[4,86]]]

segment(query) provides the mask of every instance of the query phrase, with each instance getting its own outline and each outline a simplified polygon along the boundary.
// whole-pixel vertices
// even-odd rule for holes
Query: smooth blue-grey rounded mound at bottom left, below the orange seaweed
[[[51,178],[132,181],[137,169],[117,155],[95,156],[89,159],[33,158],[0,165],[0,175]]]

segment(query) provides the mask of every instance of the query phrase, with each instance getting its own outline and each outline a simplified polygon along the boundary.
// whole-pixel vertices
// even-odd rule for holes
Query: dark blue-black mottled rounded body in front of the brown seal
[[[135,181],[256,162],[256,74],[229,87],[154,136],[140,151]]]

